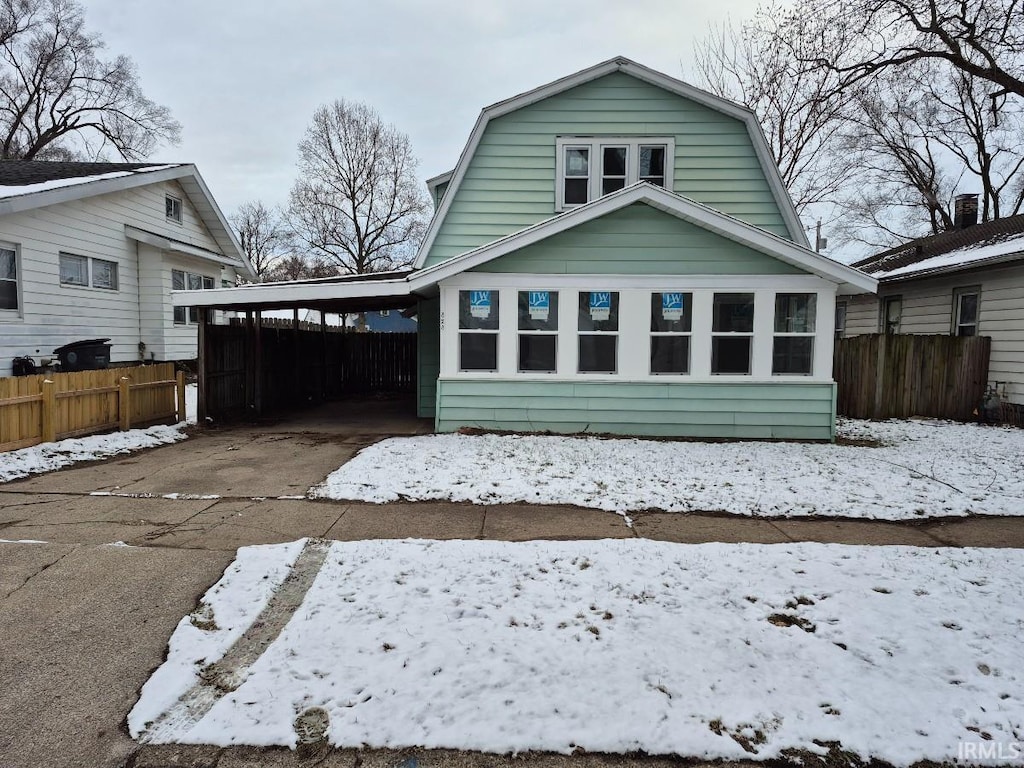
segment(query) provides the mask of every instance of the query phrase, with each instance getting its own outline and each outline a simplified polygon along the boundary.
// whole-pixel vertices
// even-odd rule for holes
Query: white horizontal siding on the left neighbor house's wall
[[[173,227],[164,210],[168,193],[183,201],[182,223]],[[49,357],[56,347],[81,339],[110,338],[116,362],[139,359],[139,342],[145,344],[146,358],[151,353],[156,359],[195,357],[195,327],[187,341],[165,344],[171,328],[169,262],[159,249],[129,240],[125,225],[220,252],[176,182],[0,216],[0,242],[18,247],[20,283],[19,312],[10,322],[11,312],[0,312],[0,376],[9,375],[12,357]],[[61,285],[61,252],[115,263],[118,290],[93,288],[91,280],[89,286]],[[219,283],[220,265],[181,261]],[[226,271],[233,276],[233,270]]]

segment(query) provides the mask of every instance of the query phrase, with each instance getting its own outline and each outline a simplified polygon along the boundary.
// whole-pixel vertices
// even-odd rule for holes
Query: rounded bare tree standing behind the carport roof
[[[372,108],[344,100],[319,108],[299,143],[294,233],[344,272],[408,265],[430,208],[416,167],[409,136]]]

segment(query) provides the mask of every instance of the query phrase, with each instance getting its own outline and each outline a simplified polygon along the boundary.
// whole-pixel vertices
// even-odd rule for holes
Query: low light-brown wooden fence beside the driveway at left
[[[173,362],[0,379],[0,452],[185,418]]]

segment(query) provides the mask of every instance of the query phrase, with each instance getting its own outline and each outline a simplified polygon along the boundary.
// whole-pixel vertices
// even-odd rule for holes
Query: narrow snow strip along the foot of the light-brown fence
[[[0,483],[52,472],[77,462],[96,461],[185,439],[180,426],[158,425],[148,429],[89,435],[57,442],[43,442],[19,451],[0,453]]]

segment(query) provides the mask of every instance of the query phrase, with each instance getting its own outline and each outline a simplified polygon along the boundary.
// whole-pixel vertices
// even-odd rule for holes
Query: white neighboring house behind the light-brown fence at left
[[[252,268],[195,166],[0,162],[0,376],[70,342],[113,361],[196,356],[197,312],[172,289]]]

